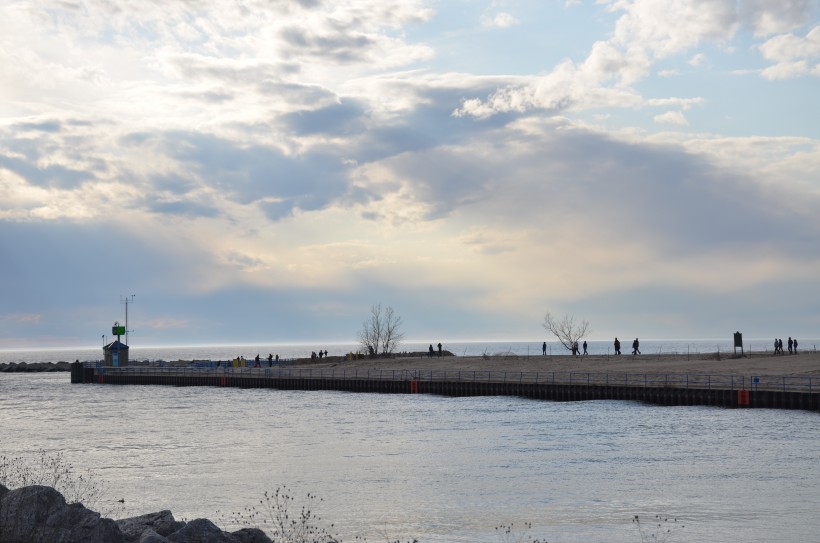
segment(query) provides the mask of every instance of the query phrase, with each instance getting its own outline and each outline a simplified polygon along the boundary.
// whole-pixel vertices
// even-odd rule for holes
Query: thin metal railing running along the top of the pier
[[[167,377],[230,376],[269,379],[341,379],[378,381],[490,382],[545,385],[623,386],[639,388],[685,388],[705,390],[771,390],[818,392],[820,378],[795,376],[746,376],[691,373],[591,373],[514,371],[434,371],[362,368],[199,368],[125,366],[101,367],[100,374],[162,375]]]

